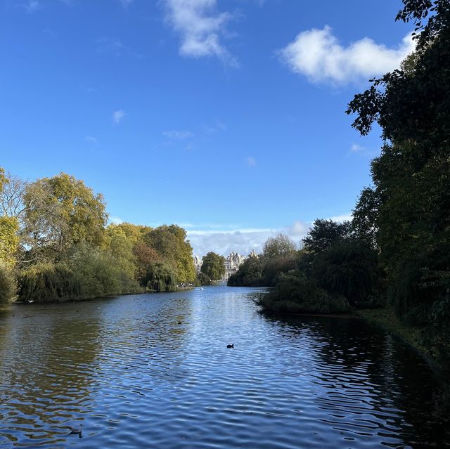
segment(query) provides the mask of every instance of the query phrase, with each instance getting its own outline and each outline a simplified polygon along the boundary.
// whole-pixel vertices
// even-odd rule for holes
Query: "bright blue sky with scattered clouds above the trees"
[[[0,166],[81,178],[113,221],[178,223],[200,255],[299,242],[370,183],[380,130],[344,111],[413,48],[399,8],[0,0]]]

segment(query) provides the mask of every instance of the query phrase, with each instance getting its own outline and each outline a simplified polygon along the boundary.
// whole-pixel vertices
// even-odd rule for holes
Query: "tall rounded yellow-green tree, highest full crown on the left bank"
[[[61,173],[34,181],[25,190],[24,234],[34,259],[53,261],[71,245],[103,244],[108,215],[101,194]]]

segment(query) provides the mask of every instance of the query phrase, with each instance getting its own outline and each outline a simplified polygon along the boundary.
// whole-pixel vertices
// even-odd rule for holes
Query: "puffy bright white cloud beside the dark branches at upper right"
[[[411,34],[397,48],[387,48],[368,37],[344,47],[327,25],[323,30],[301,32],[280,54],[293,72],[311,82],[347,84],[398,68],[413,50]]]

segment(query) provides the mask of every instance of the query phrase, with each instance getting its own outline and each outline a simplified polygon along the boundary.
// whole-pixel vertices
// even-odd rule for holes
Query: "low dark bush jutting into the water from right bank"
[[[345,297],[326,292],[295,271],[281,275],[276,289],[263,294],[258,304],[272,313],[345,313],[350,310]]]

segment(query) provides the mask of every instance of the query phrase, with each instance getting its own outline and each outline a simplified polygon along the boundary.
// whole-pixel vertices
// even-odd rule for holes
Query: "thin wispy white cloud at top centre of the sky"
[[[217,56],[236,65],[236,59],[221,44],[230,13],[217,11],[217,0],[164,0],[167,21],[181,36],[180,53],[200,58]]]

